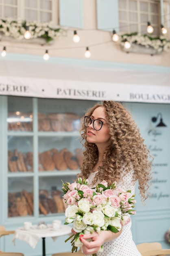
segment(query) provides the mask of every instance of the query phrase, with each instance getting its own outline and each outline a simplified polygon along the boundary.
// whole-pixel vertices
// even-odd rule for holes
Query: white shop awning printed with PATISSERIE
[[[170,103],[170,67],[40,58],[0,58],[0,95]]]

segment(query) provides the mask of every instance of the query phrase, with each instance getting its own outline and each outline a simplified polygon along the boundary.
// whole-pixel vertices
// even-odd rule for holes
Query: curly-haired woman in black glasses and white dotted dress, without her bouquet
[[[109,185],[114,181],[117,187],[135,193],[135,182],[139,182],[142,201],[147,198],[150,181],[151,162],[144,139],[129,112],[121,103],[104,101],[85,114],[83,128],[84,160],[78,177],[88,178],[93,187],[102,180]],[[75,233],[73,231],[73,233]],[[92,241],[89,242],[88,238]],[[95,254],[104,244],[98,256],[138,256],[141,255],[132,239],[131,221],[118,233],[101,231],[100,234],[81,236],[83,252]]]

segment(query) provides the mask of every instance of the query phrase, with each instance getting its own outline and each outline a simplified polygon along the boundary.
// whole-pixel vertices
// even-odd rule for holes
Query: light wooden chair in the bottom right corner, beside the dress
[[[137,245],[142,256],[166,256],[170,255],[170,249],[162,249],[160,243],[142,243]]]

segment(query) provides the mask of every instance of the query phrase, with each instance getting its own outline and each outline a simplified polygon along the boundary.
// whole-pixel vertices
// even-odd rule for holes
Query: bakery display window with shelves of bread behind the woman
[[[63,215],[62,181],[73,182],[79,172],[81,118],[95,102],[6,99],[7,218]]]

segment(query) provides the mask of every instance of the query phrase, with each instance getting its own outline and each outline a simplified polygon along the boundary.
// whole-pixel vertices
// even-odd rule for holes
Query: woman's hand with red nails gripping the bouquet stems
[[[105,242],[109,242],[116,239],[122,233],[122,229],[118,233],[113,233],[111,231],[101,231],[99,234],[93,232],[85,235],[80,235],[80,240],[83,243],[82,249],[85,255],[95,254],[100,249],[101,245]],[[88,240],[91,241],[89,242]]]

